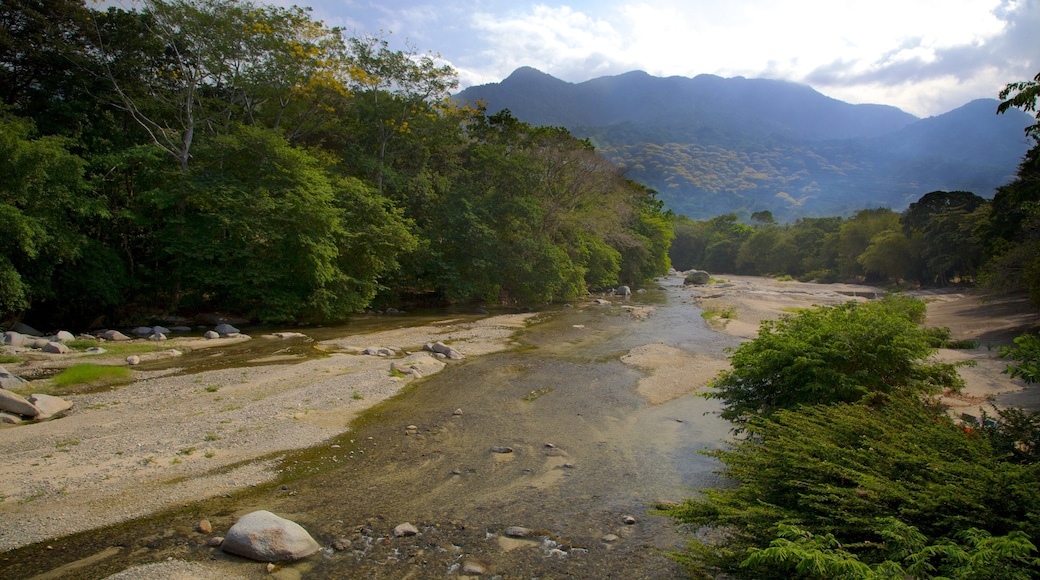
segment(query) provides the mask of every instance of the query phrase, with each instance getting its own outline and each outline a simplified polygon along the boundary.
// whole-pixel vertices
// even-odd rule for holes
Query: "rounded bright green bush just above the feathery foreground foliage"
[[[934,349],[917,325],[924,309],[919,300],[894,296],[763,321],[757,338],[732,351],[733,368],[712,381],[707,396],[723,401],[725,419],[745,423],[803,404],[957,389],[952,365],[927,361]]]

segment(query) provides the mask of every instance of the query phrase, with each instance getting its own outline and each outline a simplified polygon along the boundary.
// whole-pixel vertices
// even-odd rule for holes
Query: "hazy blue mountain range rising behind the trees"
[[[1022,129],[1033,123],[1015,109],[995,114],[991,99],[918,118],[786,81],[642,71],[569,83],[525,67],[456,99],[590,138],[669,209],[695,219],[901,211],[938,189],[988,197],[1013,179],[1029,149]]]

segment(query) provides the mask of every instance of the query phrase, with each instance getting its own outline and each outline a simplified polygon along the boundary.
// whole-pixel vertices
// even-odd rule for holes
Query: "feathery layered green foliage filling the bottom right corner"
[[[693,539],[678,555],[692,569],[759,579],[799,569],[794,577],[1040,576],[1037,464],[1006,460],[991,438],[915,396],[783,410],[746,427],[712,453],[739,486],[668,510],[724,538]]]

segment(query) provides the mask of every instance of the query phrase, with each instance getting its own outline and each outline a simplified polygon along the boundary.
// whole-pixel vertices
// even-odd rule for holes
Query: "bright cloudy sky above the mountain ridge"
[[[279,4],[294,3],[278,0]],[[389,31],[462,86],[534,67],[580,82],[764,77],[939,114],[1040,72],[1040,0],[302,0],[352,35]]]

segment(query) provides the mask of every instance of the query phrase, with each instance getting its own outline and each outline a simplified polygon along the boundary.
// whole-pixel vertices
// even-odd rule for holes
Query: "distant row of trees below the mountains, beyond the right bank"
[[[679,269],[789,275],[821,282],[1026,288],[1040,306],[1040,150],[992,200],[933,191],[903,212],[860,210],[778,225],[770,212],[694,221],[679,217],[670,249]]]

